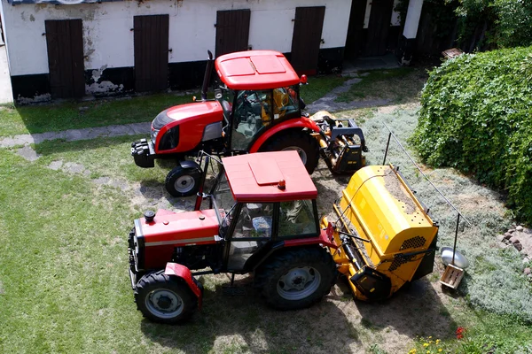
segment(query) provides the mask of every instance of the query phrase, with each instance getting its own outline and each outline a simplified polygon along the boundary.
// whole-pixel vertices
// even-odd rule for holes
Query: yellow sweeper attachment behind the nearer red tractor
[[[334,210],[338,221],[322,226],[357,299],[387,298],[432,273],[438,227],[393,165],[358,170]]]

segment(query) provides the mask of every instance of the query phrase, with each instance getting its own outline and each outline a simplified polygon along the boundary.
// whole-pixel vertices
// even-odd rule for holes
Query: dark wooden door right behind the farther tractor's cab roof
[[[216,58],[248,49],[250,15],[249,9],[216,12]]]

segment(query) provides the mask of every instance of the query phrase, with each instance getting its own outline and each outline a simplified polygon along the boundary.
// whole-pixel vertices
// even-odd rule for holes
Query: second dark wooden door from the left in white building
[[[135,89],[168,89],[168,15],[135,16]]]

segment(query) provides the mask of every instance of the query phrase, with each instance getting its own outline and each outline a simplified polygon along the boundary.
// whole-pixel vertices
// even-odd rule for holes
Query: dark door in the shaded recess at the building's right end
[[[372,0],[372,11],[368,23],[368,35],[364,49],[365,57],[386,54],[387,35],[392,20],[394,0]]]

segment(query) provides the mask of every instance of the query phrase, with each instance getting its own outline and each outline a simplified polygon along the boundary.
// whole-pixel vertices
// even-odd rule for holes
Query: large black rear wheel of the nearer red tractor
[[[298,310],[328,294],[337,274],[331,255],[323,249],[285,250],[255,272],[254,285],[271,307]]]

